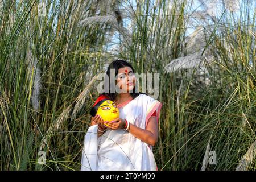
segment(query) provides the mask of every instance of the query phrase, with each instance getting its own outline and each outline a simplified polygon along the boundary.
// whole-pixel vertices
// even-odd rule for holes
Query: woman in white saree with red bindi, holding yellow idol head
[[[109,79],[110,69],[114,69],[117,78],[115,92],[100,97],[114,101],[119,118],[106,122],[106,126],[99,115],[92,117],[85,135],[81,170],[158,170],[152,146],[158,141],[162,103],[146,94],[135,93],[137,84],[130,63],[113,61],[106,72]]]

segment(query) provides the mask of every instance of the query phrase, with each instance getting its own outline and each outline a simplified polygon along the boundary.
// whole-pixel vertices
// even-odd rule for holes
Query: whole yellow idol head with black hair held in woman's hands
[[[92,117],[95,117],[97,114],[100,115],[104,121],[112,121],[119,118],[119,109],[113,101],[103,99],[90,110]],[[104,123],[104,125],[109,126],[106,123]]]

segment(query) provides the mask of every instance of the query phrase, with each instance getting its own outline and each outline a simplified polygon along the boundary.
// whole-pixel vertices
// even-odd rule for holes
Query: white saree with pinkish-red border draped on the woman
[[[140,94],[125,106],[118,107],[119,117],[146,129],[148,119],[156,111],[158,122],[162,103],[146,94]],[[90,126],[84,139],[82,171],[154,171],[158,170],[152,146],[129,132],[107,129],[97,138],[97,126]]]

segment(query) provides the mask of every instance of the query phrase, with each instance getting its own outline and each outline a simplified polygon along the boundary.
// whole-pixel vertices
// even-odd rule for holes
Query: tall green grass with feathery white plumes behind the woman
[[[159,169],[255,170],[255,2],[208,1],[0,0],[0,169],[80,169],[97,74],[120,58],[159,73]]]

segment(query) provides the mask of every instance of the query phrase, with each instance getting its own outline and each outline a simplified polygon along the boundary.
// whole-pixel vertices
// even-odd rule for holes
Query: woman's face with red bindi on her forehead
[[[130,67],[123,67],[118,69],[117,87],[121,93],[131,93],[136,83],[135,75]]]

